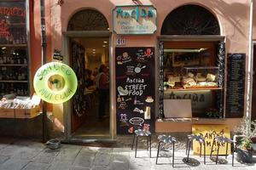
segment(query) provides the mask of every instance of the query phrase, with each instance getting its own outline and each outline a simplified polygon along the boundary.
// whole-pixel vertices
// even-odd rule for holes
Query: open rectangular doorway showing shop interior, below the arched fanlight
[[[75,138],[110,136],[108,40],[101,37],[70,38],[70,64],[79,81],[71,103]]]

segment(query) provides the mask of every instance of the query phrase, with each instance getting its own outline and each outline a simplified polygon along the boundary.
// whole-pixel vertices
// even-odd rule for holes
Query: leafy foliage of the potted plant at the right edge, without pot
[[[241,135],[237,146],[241,150],[251,150],[253,146],[252,138],[256,137],[256,122],[252,122],[248,117],[244,118],[240,126],[236,127],[235,133]]]

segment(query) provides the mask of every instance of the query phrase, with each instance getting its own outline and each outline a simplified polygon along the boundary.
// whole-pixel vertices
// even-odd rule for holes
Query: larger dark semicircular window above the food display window
[[[218,20],[206,8],[184,5],[167,15],[161,35],[220,35]]]

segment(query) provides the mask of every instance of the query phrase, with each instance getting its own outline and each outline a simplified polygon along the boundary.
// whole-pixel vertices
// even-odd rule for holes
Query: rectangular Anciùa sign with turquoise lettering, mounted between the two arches
[[[113,9],[116,34],[154,34],[156,9],[151,6],[117,6]]]

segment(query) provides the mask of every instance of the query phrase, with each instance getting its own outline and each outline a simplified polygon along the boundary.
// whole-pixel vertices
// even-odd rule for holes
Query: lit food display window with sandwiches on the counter
[[[166,118],[219,117],[216,42],[164,42]]]

